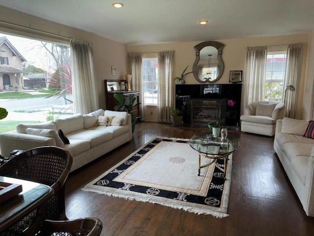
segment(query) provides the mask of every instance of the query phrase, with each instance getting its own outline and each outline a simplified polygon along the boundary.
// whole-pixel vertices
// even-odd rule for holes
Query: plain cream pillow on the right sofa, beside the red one
[[[304,135],[309,124],[309,120],[283,118],[281,132],[283,134]]]

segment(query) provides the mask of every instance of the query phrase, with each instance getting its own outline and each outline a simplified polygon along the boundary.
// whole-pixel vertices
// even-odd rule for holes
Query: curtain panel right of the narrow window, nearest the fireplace
[[[173,107],[174,51],[158,53],[158,122],[170,122]]]

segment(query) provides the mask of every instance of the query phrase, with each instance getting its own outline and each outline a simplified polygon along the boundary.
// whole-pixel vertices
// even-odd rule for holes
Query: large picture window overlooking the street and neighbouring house
[[[70,44],[0,33],[0,133],[73,114]]]

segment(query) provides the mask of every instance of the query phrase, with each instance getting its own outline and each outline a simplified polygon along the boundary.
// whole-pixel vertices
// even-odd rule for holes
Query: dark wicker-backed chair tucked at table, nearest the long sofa
[[[54,195],[48,200],[47,209],[30,212],[11,228],[5,235],[18,235],[27,227],[37,223],[38,214],[43,219],[66,220],[65,181],[72,166],[72,155],[63,148],[39,147],[29,149],[7,161],[0,167],[0,176],[19,178],[51,186]],[[43,213],[42,213],[43,212]]]

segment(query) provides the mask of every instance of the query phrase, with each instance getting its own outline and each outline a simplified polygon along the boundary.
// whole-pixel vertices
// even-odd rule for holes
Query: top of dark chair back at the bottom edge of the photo
[[[81,218],[76,220],[45,220],[42,230],[36,236],[99,236],[103,224],[97,218]]]

